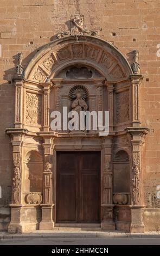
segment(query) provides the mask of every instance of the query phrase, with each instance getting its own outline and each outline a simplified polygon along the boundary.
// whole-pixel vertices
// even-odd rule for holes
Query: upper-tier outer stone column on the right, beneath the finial
[[[142,75],[130,76],[132,86],[132,123],[133,127],[139,126],[139,86],[143,79]]]

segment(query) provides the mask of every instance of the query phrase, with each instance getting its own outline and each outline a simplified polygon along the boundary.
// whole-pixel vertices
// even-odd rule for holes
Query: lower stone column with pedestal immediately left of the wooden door
[[[44,136],[43,203],[40,230],[52,230],[53,222],[53,137]]]

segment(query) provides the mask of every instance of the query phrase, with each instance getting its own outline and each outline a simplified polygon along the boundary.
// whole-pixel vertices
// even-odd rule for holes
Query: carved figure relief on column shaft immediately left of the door
[[[43,172],[44,179],[44,194],[43,194],[43,203],[50,204],[52,203],[52,171],[50,169],[50,163],[47,162],[44,166]]]

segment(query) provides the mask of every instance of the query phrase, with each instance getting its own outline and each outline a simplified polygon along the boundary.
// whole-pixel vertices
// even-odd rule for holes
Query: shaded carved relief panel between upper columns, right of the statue
[[[116,94],[116,119],[117,123],[126,123],[130,119],[129,90]]]

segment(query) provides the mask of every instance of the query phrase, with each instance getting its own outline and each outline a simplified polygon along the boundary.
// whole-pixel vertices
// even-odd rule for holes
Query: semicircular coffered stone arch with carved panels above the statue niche
[[[110,43],[89,35],[80,35],[78,39],[70,35],[42,47],[28,64],[25,78],[45,82],[67,66],[84,63],[110,81],[133,75],[126,58]]]

